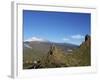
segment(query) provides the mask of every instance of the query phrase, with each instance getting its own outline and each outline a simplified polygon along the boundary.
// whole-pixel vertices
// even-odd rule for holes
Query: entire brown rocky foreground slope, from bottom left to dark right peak
[[[34,52],[34,50],[31,52]],[[38,53],[36,53],[36,55],[37,54]],[[32,55],[29,57],[31,58]],[[65,54],[62,48],[52,44],[46,54],[42,55],[41,58],[35,58],[36,59],[32,58],[33,62],[25,64],[26,67],[24,66],[24,69],[90,66],[91,37],[86,35],[82,44],[71,53]]]

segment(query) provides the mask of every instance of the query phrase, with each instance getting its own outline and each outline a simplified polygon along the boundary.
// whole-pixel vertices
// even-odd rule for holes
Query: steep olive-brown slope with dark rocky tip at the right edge
[[[91,65],[91,37],[85,36],[85,41],[78,49],[73,51],[73,55],[78,65],[77,66],[90,66]]]

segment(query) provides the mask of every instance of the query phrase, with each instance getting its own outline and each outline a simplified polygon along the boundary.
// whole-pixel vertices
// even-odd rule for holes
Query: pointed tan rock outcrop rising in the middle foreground
[[[59,48],[52,45],[46,60],[47,67],[64,67],[66,66],[66,56]]]

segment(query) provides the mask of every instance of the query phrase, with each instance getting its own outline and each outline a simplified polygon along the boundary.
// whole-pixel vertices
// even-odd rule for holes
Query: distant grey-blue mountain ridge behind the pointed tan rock
[[[50,46],[54,44],[57,48],[61,48],[63,51],[71,51],[79,46],[69,43],[55,43],[55,42],[42,42],[42,41],[26,41],[23,43],[24,48],[34,49],[35,51],[47,53]]]

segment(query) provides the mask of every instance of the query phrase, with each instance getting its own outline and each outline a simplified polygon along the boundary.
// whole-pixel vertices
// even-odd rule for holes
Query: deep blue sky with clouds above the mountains
[[[89,13],[23,10],[24,41],[32,37],[80,45],[90,35]]]

